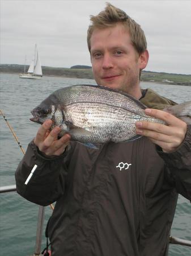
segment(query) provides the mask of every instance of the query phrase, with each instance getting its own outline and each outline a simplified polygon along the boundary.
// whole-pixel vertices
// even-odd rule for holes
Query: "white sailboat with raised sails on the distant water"
[[[41,79],[43,76],[39,52],[37,51],[37,46],[35,44],[35,52],[32,58],[32,63],[29,65],[27,73],[25,73],[24,65],[24,74],[20,74],[19,77],[22,79]]]

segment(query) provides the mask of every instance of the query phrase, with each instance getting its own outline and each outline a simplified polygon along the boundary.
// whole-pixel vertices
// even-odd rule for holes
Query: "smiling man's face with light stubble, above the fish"
[[[138,56],[127,28],[122,24],[96,28],[90,44],[92,71],[97,84],[139,97],[139,70],[146,67],[148,55],[146,60],[142,55]]]

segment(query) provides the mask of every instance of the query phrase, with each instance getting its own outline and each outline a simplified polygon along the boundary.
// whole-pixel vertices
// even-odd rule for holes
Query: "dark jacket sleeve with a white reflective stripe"
[[[65,192],[67,151],[60,156],[48,158],[39,153],[33,141],[29,143],[15,172],[17,192],[32,203],[44,206],[56,201]],[[25,184],[35,164],[37,168]]]

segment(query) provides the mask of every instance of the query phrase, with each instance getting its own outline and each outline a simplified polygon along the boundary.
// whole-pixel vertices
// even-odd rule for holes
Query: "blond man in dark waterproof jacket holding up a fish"
[[[36,204],[57,201],[48,229],[53,256],[164,256],[177,192],[191,199],[190,126],[159,110],[174,102],[140,88],[148,61],[141,27],[110,4],[91,21],[97,84],[131,94],[167,125],[138,122],[141,139],[94,150],[69,142],[69,134],[58,139],[60,128],[49,132],[48,120],[16,170],[17,190]]]

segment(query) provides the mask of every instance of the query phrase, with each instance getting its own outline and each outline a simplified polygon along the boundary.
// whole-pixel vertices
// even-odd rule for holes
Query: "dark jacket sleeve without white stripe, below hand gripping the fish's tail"
[[[176,191],[191,201],[191,125],[187,126],[184,142],[171,154],[166,154],[157,146],[158,154],[163,158],[168,180]]]

